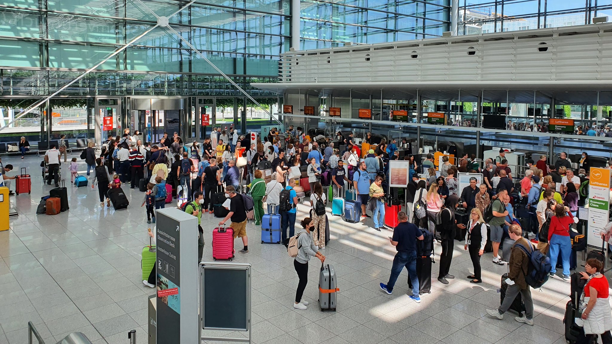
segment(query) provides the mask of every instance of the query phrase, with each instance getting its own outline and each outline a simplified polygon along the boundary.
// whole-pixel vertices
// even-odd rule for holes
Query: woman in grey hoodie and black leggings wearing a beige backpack
[[[296,232],[298,244],[297,256],[293,261],[297,277],[299,277],[296,291],[296,303],[293,304],[293,308],[305,310],[308,301],[302,300],[302,295],[308,283],[308,261],[310,257],[316,257],[319,258],[321,264],[323,264],[325,256],[318,251],[319,249],[316,247],[315,242],[313,242],[312,235],[310,235],[310,230],[315,227],[315,223],[313,223],[312,219],[306,217],[300,224],[302,228]],[[307,235],[300,235],[302,233],[306,233]]]

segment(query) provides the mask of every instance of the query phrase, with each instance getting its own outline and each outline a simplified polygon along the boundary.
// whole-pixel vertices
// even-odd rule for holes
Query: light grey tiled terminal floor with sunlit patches
[[[73,154],[76,156],[77,154]],[[124,190],[130,197],[127,210],[100,208],[97,189],[69,187],[70,211],[36,215],[40,197],[53,185],[42,184],[40,158],[2,156],[18,171],[28,167],[32,194],[12,196],[20,213],[11,219],[10,231],[0,232],[0,344],[27,342],[32,321],[47,343],[80,331],[95,344],[129,343],[126,332],[136,329],[138,343],[146,342],[147,295],[143,286],[140,254],[148,244],[143,193]],[[81,170],[86,166],[79,160]],[[66,176],[67,173],[64,173]],[[306,215],[300,205],[298,219]],[[218,219],[205,215],[204,257],[211,258],[211,233]],[[371,222],[368,222],[371,224]],[[363,223],[355,225],[331,217],[332,240],[324,251],[334,264],[340,293],[337,312],[321,312],[318,299],[319,265],[310,264],[305,298],[308,310],[292,307],[297,275],[282,245],[260,244],[259,229],[249,225],[250,255],[236,260],[253,266],[252,338],[266,344],[393,344],[393,343],[565,343],[561,319],[569,283],[555,278],[542,290],[532,291],[535,326],[517,323],[513,316],[494,320],[485,310],[499,305],[500,275],[506,267],[482,258],[485,283],[462,279],[471,271],[468,253],[455,242],[451,274],[457,279],[444,286],[433,279],[432,293],[416,304],[406,294],[406,271],[392,295],[381,292],[394,256],[387,236]],[[238,239],[236,247],[241,248]],[[440,247],[436,244],[436,261]],[[580,256],[580,255],[579,255]],[[437,272],[437,264],[433,271]],[[231,335],[244,335],[234,333]]]

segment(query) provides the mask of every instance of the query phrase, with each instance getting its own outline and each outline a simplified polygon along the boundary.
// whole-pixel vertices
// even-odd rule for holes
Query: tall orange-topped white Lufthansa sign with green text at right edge
[[[589,224],[586,244],[600,249],[602,239],[599,235],[608,224],[610,211],[610,170],[591,167],[589,182]]]

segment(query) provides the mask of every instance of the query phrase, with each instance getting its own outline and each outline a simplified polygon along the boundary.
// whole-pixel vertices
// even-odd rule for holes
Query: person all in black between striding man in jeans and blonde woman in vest
[[[455,220],[455,208],[459,202],[459,198],[455,195],[450,195],[446,198],[444,208],[440,211],[441,225],[439,225],[440,237],[442,238],[442,253],[440,255],[440,272],[438,281],[443,284],[449,284],[447,279],[454,279],[455,276],[450,275],[450,263],[453,260],[453,247],[457,228],[466,228],[461,223],[457,224]]]

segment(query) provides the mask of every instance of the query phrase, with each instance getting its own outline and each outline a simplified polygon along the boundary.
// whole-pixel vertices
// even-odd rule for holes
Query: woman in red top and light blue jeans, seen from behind
[[[563,279],[570,279],[570,253],[572,253],[570,225],[572,223],[574,223],[574,217],[570,209],[563,206],[563,204],[557,204],[554,207],[554,216],[550,219],[550,226],[548,227],[548,243],[550,244],[548,256],[550,257],[550,264],[553,266],[550,269],[551,277],[556,272],[557,258],[559,257],[559,252],[561,252]]]

